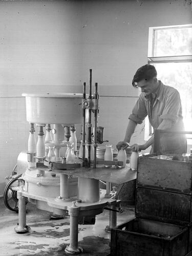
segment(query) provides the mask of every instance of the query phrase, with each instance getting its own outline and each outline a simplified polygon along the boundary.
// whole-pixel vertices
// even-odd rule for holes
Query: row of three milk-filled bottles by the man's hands
[[[138,152],[132,152],[131,157],[130,157],[130,168],[132,170],[137,170],[137,160],[138,160],[139,154]],[[104,153],[104,160],[105,161],[113,161],[113,150],[112,150],[112,145],[106,145],[106,150]],[[121,147],[120,150],[118,151],[117,155],[117,161],[122,161],[123,165],[119,167],[125,167],[126,166],[126,151],[123,150]],[[111,165],[104,165],[105,167],[111,167]]]

